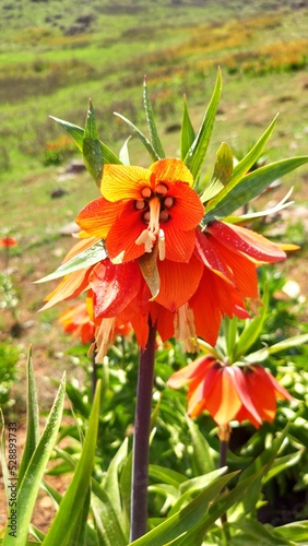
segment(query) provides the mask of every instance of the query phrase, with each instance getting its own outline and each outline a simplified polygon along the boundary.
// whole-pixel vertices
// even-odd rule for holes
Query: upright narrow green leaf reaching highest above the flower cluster
[[[201,123],[200,130],[183,161],[186,166],[192,173],[193,179],[196,181],[198,181],[199,179],[202,164],[210,143],[216,117],[216,111],[220,104],[221,92],[222,92],[222,75],[221,75],[221,70],[218,70],[215,88],[211,97],[209,107],[206,109],[205,116],[203,118],[203,121]]]

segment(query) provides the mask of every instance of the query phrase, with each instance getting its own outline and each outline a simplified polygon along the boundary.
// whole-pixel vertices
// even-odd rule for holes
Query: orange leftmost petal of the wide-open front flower
[[[88,203],[75,218],[76,224],[86,233],[106,239],[110,227],[122,213],[123,203],[110,203],[98,198]]]

